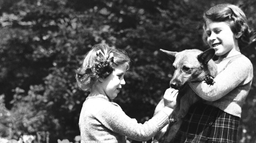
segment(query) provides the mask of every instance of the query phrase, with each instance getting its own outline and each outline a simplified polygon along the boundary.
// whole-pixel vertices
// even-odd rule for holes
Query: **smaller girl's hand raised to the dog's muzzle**
[[[174,88],[166,89],[164,93],[164,106],[174,109],[176,106],[176,98],[179,90]]]

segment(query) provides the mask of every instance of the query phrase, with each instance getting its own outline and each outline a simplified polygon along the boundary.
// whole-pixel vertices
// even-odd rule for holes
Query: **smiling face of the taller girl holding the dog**
[[[215,49],[215,55],[223,58],[237,55],[239,50],[236,35],[226,22],[206,21],[207,43]],[[240,53],[240,52],[239,52]]]

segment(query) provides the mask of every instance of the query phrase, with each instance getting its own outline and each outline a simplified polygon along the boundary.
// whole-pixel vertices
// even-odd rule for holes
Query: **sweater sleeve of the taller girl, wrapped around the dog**
[[[200,83],[189,83],[193,91],[201,98],[215,101],[227,95],[239,85],[251,82],[253,76],[252,64],[249,59],[236,59],[230,62],[215,78],[213,85],[205,81]]]

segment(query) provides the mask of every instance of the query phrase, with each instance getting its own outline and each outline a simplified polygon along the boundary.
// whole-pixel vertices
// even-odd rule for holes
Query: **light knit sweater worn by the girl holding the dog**
[[[197,95],[207,100],[206,104],[241,117],[241,107],[251,89],[252,63],[242,54],[219,59],[215,63],[218,75],[213,85],[205,81],[189,85]]]

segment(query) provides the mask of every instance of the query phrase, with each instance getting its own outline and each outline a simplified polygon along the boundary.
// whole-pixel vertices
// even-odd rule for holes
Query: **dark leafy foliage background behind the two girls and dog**
[[[202,42],[202,13],[219,3],[240,5],[256,24],[254,0],[0,0],[0,137],[49,131],[50,142],[73,140],[88,93],[75,71],[97,43],[125,49],[132,59],[116,102],[145,122],[169,87],[163,48],[208,47]],[[256,45],[243,54],[256,69]],[[239,127],[241,143],[256,142],[256,74]]]

